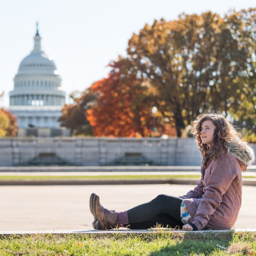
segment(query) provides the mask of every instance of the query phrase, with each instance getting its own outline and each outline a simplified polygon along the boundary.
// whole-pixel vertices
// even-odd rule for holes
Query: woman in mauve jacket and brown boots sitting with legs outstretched
[[[194,190],[180,197],[159,195],[124,212],[112,212],[90,196],[92,226],[146,229],[161,225],[183,230],[229,229],[236,222],[242,197],[242,173],[254,153],[236,129],[218,113],[205,113],[194,121],[191,133],[202,156],[202,178]]]

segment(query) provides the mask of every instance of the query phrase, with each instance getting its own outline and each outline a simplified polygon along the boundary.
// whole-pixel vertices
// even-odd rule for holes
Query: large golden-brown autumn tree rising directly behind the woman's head
[[[235,104],[229,98],[237,97],[234,79],[246,54],[218,14],[182,14],[178,20],[146,24],[130,39],[127,53],[178,136],[209,105],[227,111]]]

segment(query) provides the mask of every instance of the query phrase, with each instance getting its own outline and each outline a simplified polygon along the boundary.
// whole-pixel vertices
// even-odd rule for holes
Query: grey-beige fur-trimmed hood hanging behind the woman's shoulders
[[[228,153],[232,154],[240,162],[242,171],[246,171],[246,167],[252,165],[255,160],[253,149],[248,143],[238,138],[234,138],[232,142],[228,143]],[[245,165],[245,170],[243,170],[242,165]]]

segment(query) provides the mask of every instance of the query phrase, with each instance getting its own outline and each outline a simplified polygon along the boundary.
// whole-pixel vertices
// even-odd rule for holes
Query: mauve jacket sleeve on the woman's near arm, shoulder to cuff
[[[223,154],[213,161],[211,174],[205,181],[204,195],[191,221],[198,230],[207,225],[211,215],[222,202],[222,196],[227,192],[237,174],[235,159],[232,156]]]

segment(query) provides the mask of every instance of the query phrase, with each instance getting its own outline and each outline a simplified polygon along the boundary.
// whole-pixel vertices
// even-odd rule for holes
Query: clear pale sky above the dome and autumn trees
[[[108,76],[107,65],[126,56],[128,40],[146,23],[175,20],[182,12],[212,11],[222,17],[230,9],[256,7],[255,0],[8,0],[0,8],[0,107],[9,106],[9,92],[21,60],[34,47],[36,22],[41,48],[60,72],[69,94],[84,91]],[[68,98],[68,97],[67,97]]]

